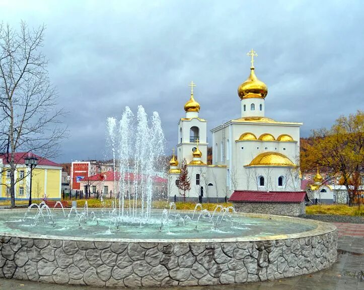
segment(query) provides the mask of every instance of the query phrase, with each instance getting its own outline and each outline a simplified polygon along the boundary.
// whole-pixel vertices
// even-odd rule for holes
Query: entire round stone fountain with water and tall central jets
[[[331,224],[223,205],[152,209],[164,146],[158,114],[149,120],[141,106],[136,116],[127,107],[107,124],[118,169],[111,208],[103,201],[92,211],[87,203],[1,210],[0,275],[103,287],[203,286],[307,274],[335,262]]]

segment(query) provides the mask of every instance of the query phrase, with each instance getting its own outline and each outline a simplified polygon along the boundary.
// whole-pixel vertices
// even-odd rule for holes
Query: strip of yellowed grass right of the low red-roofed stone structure
[[[322,204],[310,205],[306,207],[306,214],[337,214],[364,216],[364,206],[348,206],[346,204]]]

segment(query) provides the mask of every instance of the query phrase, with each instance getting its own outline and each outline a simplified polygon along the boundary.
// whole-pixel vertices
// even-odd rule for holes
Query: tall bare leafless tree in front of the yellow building
[[[57,93],[41,52],[44,25],[16,31],[0,24],[0,147],[10,166],[11,207],[15,207],[16,152],[55,157],[66,128],[60,125]]]

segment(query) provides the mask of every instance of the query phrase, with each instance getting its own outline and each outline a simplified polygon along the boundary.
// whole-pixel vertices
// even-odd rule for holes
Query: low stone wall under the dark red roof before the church
[[[304,202],[233,202],[237,211],[299,216],[306,213]]]

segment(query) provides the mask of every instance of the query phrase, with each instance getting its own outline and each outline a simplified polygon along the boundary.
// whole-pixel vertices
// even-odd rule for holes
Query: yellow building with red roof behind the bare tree
[[[15,154],[15,199],[27,200],[30,193],[30,168],[25,165],[24,158],[28,153]],[[61,176],[62,166],[48,159],[32,156],[38,159],[37,165],[33,167],[32,174],[32,199],[40,199],[47,196],[48,199],[61,199]],[[2,167],[2,185],[0,186],[0,200],[10,199],[10,165],[7,156],[0,156],[0,166]]]

